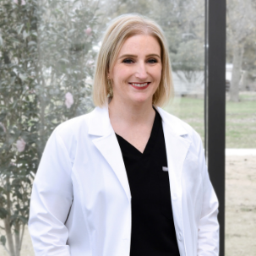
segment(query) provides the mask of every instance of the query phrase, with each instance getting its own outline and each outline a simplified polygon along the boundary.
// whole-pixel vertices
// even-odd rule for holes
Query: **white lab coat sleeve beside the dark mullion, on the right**
[[[199,139],[199,159],[203,182],[203,201],[199,220],[198,256],[218,256],[219,222],[217,215],[219,204],[210,182],[201,139]]]

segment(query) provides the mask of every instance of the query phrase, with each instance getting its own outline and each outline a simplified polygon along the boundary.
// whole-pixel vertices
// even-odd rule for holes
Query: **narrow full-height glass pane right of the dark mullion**
[[[255,1],[227,1],[226,255],[256,252]]]

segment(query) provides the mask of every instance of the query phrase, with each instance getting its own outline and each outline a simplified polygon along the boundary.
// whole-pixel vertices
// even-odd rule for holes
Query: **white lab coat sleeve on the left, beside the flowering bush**
[[[41,157],[30,199],[35,256],[70,256],[65,221],[73,200],[71,169],[68,150],[56,129]]]

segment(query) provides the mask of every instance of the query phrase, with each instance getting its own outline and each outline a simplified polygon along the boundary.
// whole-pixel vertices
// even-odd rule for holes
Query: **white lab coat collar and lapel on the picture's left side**
[[[121,183],[128,201],[131,199],[131,192],[128,184],[128,177],[125,170],[123,155],[117,141],[116,134],[110,123],[108,109],[96,107],[91,113],[89,133],[100,136],[93,139],[95,147],[101,152],[108,164],[112,167],[119,182]]]

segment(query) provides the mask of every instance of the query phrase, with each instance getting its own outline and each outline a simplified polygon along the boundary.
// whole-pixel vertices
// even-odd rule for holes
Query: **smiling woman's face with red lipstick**
[[[148,103],[161,80],[161,46],[151,35],[134,35],[124,41],[109,74],[113,101]]]

